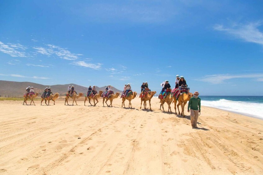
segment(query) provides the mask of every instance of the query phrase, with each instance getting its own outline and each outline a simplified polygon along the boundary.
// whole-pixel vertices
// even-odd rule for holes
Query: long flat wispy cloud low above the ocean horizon
[[[254,81],[263,81],[263,74],[240,74],[240,75],[230,75],[230,74],[216,74],[216,75],[206,75],[200,79],[200,81],[208,82],[211,84],[221,84],[225,83],[226,80],[235,78],[253,78]]]

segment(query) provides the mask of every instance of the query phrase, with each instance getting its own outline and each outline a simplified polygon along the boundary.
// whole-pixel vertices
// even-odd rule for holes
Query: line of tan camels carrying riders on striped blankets
[[[178,114],[185,117],[184,107],[186,103],[190,100],[190,98],[194,96],[194,94],[189,92],[190,88],[186,84],[184,77],[183,76],[179,77],[179,75],[176,76],[175,88],[173,89],[171,89],[171,86],[168,80],[162,82],[161,86],[162,86],[162,90],[160,94],[158,95],[158,98],[160,99],[160,103],[161,103],[160,110],[162,109],[163,111],[165,111],[164,103],[167,103],[168,112],[172,113],[171,105],[172,103],[174,103],[175,114],[177,115],[177,110],[176,110],[176,106],[177,106]],[[131,85],[129,83],[124,85],[122,94],[120,94],[119,92],[116,92],[114,94],[114,92],[112,91],[112,88],[113,86],[107,85],[105,88],[105,91],[100,90],[99,93],[97,93],[95,85],[93,85],[93,87],[89,85],[87,94],[85,95],[85,99],[84,99],[84,106],[86,106],[87,99],[88,99],[88,103],[91,106],[96,106],[96,104],[99,102],[98,98],[102,98],[103,107],[105,107],[104,102],[106,103],[107,107],[112,107],[113,99],[120,97],[122,99],[121,107],[125,107],[125,101],[127,100],[129,101],[129,108],[132,108],[131,100],[139,96],[139,98],[141,98],[140,109],[142,109],[142,104],[143,104],[143,108],[146,110],[147,101],[148,101],[150,110],[152,111],[151,99],[153,96],[155,96],[156,91],[151,91],[149,89],[147,81],[143,82],[143,84],[141,85],[141,93],[139,95],[137,95],[137,92],[132,91]],[[34,103],[34,98],[36,98],[38,94],[39,93],[34,93],[33,87],[30,87],[30,86],[27,87],[26,94],[24,94],[24,103],[26,103],[27,100],[31,100],[30,102],[30,105],[31,105],[32,102]],[[66,96],[65,105],[66,103],[67,105],[69,105],[68,99],[71,98],[73,99],[73,102],[72,102],[72,106],[73,106],[74,102],[76,105],[78,105],[76,99],[82,97],[83,93],[80,92],[79,94],[77,94],[77,92],[75,91],[74,85],[69,85],[68,91],[66,92],[65,96]],[[58,93],[53,94],[51,92],[51,87],[46,87],[44,89],[43,94],[41,95],[41,105],[44,100],[45,100],[46,105],[49,105],[49,102],[51,100],[54,102],[54,105],[55,105],[55,100],[58,97],[59,97]],[[93,100],[93,104],[91,104],[91,100]],[[108,101],[110,101],[109,104],[107,103]],[[179,106],[181,106],[181,112],[179,110]]]

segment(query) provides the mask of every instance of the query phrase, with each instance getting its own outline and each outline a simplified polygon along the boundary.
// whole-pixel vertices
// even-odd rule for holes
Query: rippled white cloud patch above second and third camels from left
[[[67,59],[67,60],[75,60],[78,59],[79,56],[82,54],[75,54],[71,53],[66,48],[62,48],[60,46],[55,46],[52,44],[48,44],[47,47],[33,47],[37,53],[43,54],[43,55],[57,55],[61,59]]]

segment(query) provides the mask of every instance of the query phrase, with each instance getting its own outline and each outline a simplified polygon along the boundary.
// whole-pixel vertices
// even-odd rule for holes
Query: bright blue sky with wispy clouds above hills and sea
[[[0,80],[122,89],[183,75],[200,95],[263,95],[262,1],[0,1]],[[66,91],[66,90],[65,90]]]

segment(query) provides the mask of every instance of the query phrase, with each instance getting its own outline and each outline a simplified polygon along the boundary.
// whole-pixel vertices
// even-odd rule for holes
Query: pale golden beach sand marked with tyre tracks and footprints
[[[263,174],[263,120],[202,106],[192,129],[157,98],[153,111],[77,103],[0,101],[0,173]]]

